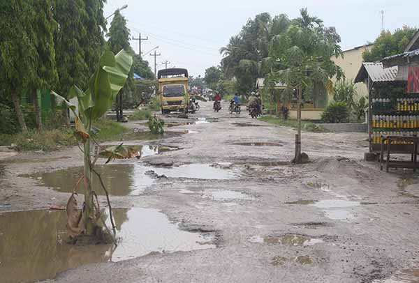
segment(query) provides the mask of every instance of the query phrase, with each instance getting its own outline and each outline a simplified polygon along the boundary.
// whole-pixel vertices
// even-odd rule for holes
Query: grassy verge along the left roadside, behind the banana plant
[[[106,119],[97,121],[94,126],[100,129],[95,136],[98,142],[118,140],[129,130],[115,121]],[[57,151],[63,146],[74,146],[77,141],[73,136],[73,128],[62,127],[42,132],[29,130],[27,133],[0,134],[0,146],[10,144],[15,144],[19,151]]]

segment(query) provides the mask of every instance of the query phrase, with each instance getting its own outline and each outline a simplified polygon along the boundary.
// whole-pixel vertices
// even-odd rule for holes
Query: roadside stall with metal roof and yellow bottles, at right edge
[[[362,63],[355,82],[367,84],[369,152],[379,156],[381,169],[384,162],[387,171],[419,169],[419,49],[385,58],[383,63]],[[409,159],[391,158],[401,154]]]

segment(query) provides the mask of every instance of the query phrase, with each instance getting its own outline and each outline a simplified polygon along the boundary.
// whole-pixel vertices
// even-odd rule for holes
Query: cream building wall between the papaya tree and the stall
[[[355,79],[356,75],[358,75],[358,71],[361,68],[362,64],[362,53],[366,49],[371,49],[372,45],[364,45],[360,47],[355,47],[353,49],[349,49],[344,51],[344,58],[335,56],[332,57],[332,61],[335,62],[337,66],[342,68],[344,70],[344,74],[347,81],[353,82],[353,79]],[[336,78],[332,79],[333,83],[336,82]],[[357,92],[358,92],[358,98],[361,96],[367,96],[368,90],[367,85],[364,83],[358,83],[355,84]],[[330,98],[329,101],[331,101],[332,98]]]

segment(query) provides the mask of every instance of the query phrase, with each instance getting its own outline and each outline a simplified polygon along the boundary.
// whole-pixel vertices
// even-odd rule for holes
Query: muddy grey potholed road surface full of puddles
[[[136,254],[116,250],[113,256],[112,249],[102,249],[96,252],[106,257],[79,264],[73,261],[80,254],[66,252],[71,265],[36,280],[387,282],[409,273],[403,270],[411,270],[412,277],[419,261],[417,174],[386,174],[376,163],[363,162],[368,144],[362,133],[303,132],[302,149],[310,162],[291,165],[295,130],[252,120],[244,112],[230,115],[226,103],[218,113],[203,102],[188,119],[165,118],[170,131],[189,131],[184,135],[135,142],[177,150],[113,162],[124,168],[114,174],[116,167],[111,167],[108,179],[111,192],[115,187],[112,206],[126,211],[117,220],[122,246],[124,239],[134,239],[149,249]],[[45,174],[73,172],[80,165],[82,153],[76,147],[0,160],[0,212],[5,213],[0,216],[0,257],[6,252],[2,247],[19,245],[6,237],[13,227],[1,226],[1,217],[64,206],[69,193],[63,188],[77,181],[77,171],[54,177],[52,183]],[[99,200],[105,205],[105,197]],[[135,222],[138,211],[159,220]],[[159,228],[136,234],[135,229],[154,223],[174,225],[169,235],[176,239],[154,237]],[[182,243],[191,248],[177,248]],[[125,250],[135,251],[129,247]],[[36,256],[41,257],[24,255],[29,262]],[[0,261],[0,273],[13,280],[20,267],[4,268]],[[31,282],[29,275],[25,280]],[[397,280],[391,282],[416,282]]]

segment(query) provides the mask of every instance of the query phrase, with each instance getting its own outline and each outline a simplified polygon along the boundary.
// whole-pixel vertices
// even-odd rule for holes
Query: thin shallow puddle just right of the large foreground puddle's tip
[[[287,234],[284,236],[253,236],[249,239],[251,243],[266,243],[266,244],[279,244],[279,245],[295,245],[307,246],[323,243],[321,238],[311,238],[309,236]]]

